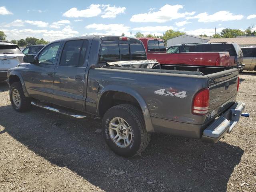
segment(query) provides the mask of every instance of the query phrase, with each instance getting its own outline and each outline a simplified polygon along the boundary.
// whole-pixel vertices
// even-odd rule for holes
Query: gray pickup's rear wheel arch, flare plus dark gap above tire
[[[133,104],[137,106],[144,117],[147,132],[154,132],[148,106],[142,96],[131,88],[124,86],[106,86],[99,92],[97,112],[104,116],[105,112],[118,104]]]

